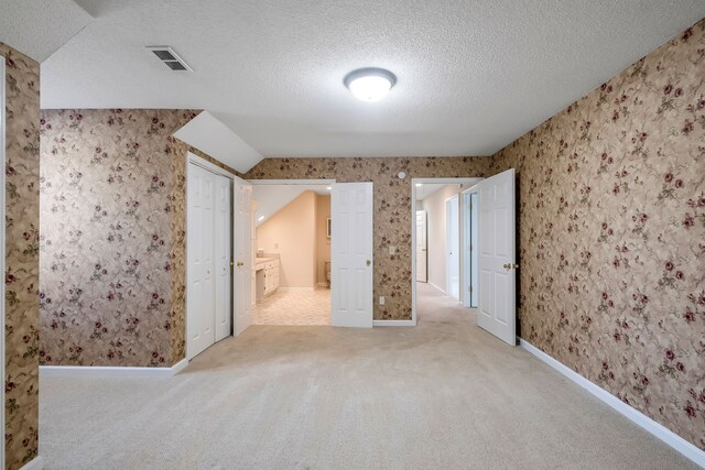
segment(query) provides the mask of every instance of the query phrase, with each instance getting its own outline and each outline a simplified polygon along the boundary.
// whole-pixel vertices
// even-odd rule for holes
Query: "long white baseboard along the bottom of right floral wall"
[[[556,371],[561,372],[564,376],[566,376],[571,381],[575,382],[576,384],[585,389],[587,392],[589,392],[590,394],[593,394],[594,396],[603,401],[605,404],[607,404],[609,407],[611,407],[612,409],[615,409],[616,412],[618,412],[619,414],[621,414],[622,416],[631,420],[633,424],[641,427],[647,433],[650,433],[658,439],[662,440],[664,444],[672,447],[677,452],[682,453],[685,458],[695,462],[695,464],[705,468],[705,451],[698,449],[693,444],[688,442],[677,434],[673,433],[671,429],[654,422],[653,419],[642,414],[641,412],[637,411],[636,408],[632,408],[631,406],[627,405],[625,402],[622,402],[611,393],[594,384],[589,380],[585,379],[583,375],[575,372],[573,369],[558,362],[556,359],[546,354],[545,352],[543,352],[535,346],[531,345],[530,342],[519,338],[519,343],[528,352],[536,357],[539,360],[545,362]]]

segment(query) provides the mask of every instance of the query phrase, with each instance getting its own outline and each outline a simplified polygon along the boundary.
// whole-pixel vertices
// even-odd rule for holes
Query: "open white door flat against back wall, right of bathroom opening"
[[[336,183],[330,193],[330,320],[372,326],[372,183]]]

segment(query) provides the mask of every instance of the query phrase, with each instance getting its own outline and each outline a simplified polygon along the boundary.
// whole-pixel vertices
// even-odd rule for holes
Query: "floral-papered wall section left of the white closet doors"
[[[184,358],[189,110],[47,110],[41,119],[43,364]]]

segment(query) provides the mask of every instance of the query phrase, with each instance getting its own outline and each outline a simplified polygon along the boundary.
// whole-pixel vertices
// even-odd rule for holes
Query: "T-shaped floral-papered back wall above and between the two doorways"
[[[375,186],[375,319],[411,319],[411,178],[474,177],[489,174],[489,157],[265,159],[247,179],[335,178]],[[399,172],[406,173],[399,179]],[[389,247],[397,254],[389,254]]]

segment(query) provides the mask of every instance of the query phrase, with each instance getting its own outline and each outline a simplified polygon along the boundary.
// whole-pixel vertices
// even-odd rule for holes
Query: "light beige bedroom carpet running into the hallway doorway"
[[[253,326],[169,379],[42,379],[47,469],[694,468],[420,285],[416,328]]]

